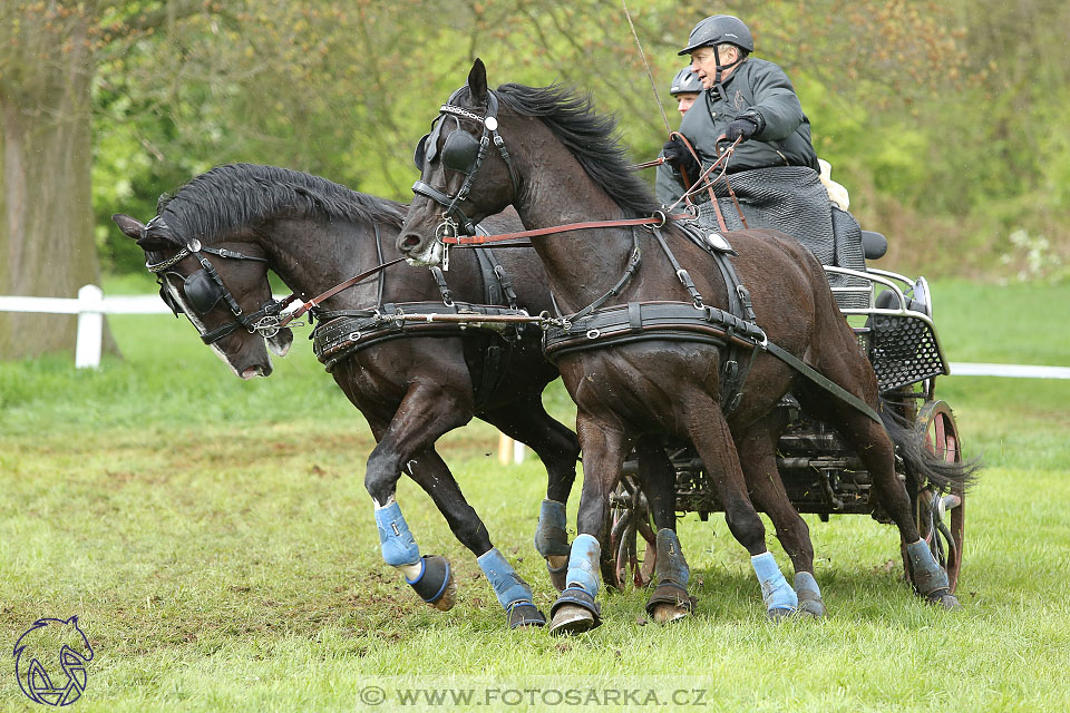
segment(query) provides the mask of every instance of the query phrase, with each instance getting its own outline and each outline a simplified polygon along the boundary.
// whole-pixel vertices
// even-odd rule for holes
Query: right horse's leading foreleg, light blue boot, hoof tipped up
[[[601,543],[606,540],[610,496],[621,479],[628,441],[609,423],[581,411],[576,419],[583,448],[583,491],[576,516],[566,586],[551,608],[553,634],[586,632],[602,623],[599,594]]]

